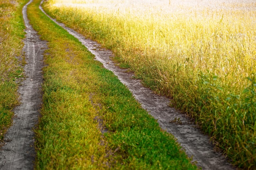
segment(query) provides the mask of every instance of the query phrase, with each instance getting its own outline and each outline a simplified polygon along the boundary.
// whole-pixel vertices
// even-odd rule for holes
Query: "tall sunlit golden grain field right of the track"
[[[45,10],[171,97],[242,168],[256,168],[254,0],[47,0]]]

